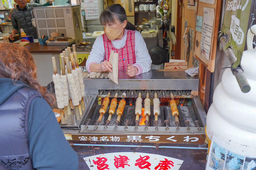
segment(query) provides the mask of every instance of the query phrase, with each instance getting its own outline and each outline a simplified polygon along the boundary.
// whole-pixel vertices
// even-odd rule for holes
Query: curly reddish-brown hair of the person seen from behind
[[[0,43],[0,49],[0,77],[10,78],[14,83],[17,80],[23,82],[40,92],[49,105],[53,105],[54,97],[47,94],[36,81],[36,65],[28,49],[18,43]]]

